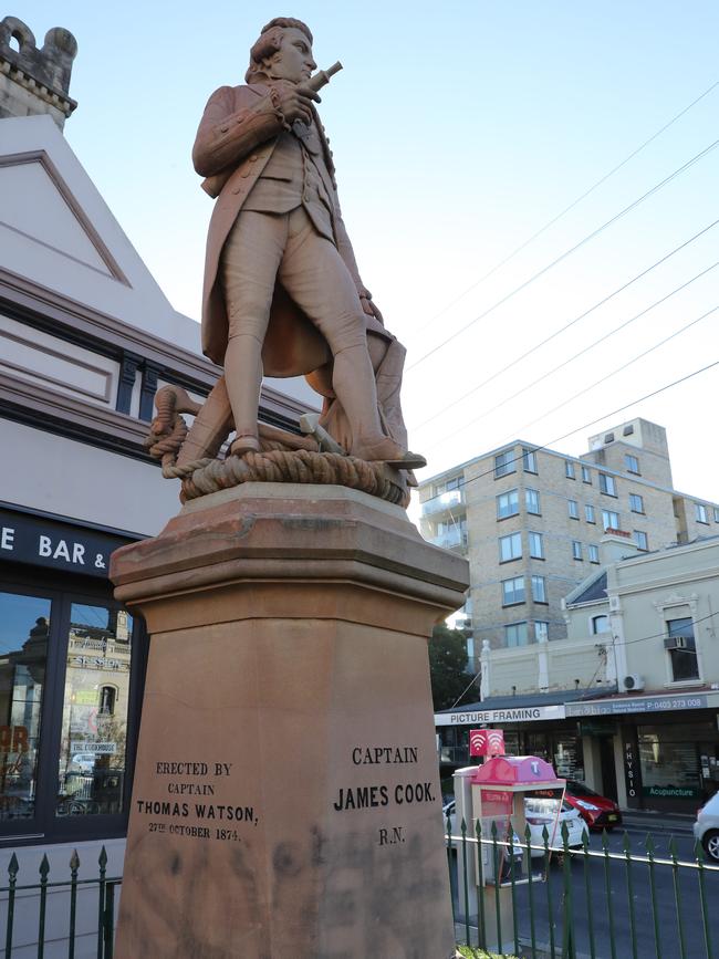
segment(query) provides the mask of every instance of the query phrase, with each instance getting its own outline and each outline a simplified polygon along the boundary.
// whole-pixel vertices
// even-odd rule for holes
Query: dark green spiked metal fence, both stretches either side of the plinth
[[[529,826],[523,842],[496,825],[482,836],[479,822],[452,835],[448,822],[458,942],[525,959],[719,959],[719,866],[705,862],[700,844],[671,838],[663,854],[665,841],[647,836],[639,852],[626,833],[604,833],[596,845],[585,834],[571,848],[566,828],[559,845],[546,828],[533,843]],[[74,852],[69,874],[51,879],[43,856],[37,882],[20,876],[13,854],[0,887],[0,959],[113,959],[122,878],[106,867],[103,846],[97,875],[81,879]]]

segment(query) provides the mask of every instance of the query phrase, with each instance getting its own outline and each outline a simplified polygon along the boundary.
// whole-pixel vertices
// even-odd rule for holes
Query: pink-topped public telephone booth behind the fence
[[[484,841],[472,844],[475,855],[467,856],[466,875],[463,863],[458,857],[459,903],[469,904],[470,918],[477,916],[477,887],[481,877],[487,937],[482,945],[489,949],[497,948],[496,898],[499,898],[502,937],[509,942],[510,935],[513,935],[511,887],[512,884],[527,883],[532,868],[532,857],[527,854],[527,825],[529,823],[533,827],[539,824],[536,836],[532,836],[532,845],[541,845],[544,826],[552,843],[559,833],[566,781],[559,779],[550,763],[535,755],[492,757],[482,765],[457,770],[454,779],[457,833],[463,820],[467,836],[475,837],[479,821]],[[542,810],[539,817],[534,814],[536,805]],[[493,827],[497,830],[496,848],[491,842]],[[506,845],[510,834],[513,843],[511,856]],[[543,876],[533,874],[532,878],[540,879]]]

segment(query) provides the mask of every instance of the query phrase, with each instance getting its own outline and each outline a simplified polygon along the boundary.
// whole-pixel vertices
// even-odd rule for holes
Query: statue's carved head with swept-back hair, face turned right
[[[308,80],[316,63],[312,59],[312,32],[302,20],[275,17],[262,28],[259,40],[250,50],[250,65],[244,74],[248,83],[268,80]]]

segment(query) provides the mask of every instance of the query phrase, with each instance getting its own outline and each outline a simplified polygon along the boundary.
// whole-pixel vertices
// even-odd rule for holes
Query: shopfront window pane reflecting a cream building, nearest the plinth
[[[123,810],[132,632],[122,609],[71,605],[59,816]]]

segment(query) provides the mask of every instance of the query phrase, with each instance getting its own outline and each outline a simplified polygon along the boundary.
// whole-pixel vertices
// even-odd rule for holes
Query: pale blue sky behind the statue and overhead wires
[[[75,34],[71,93],[80,106],[67,140],[173,304],[195,317],[211,212],[189,160],[202,107],[217,86],[242,81],[267,20],[283,12],[306,20],[317,63],[345,67],[324,92],[321,114],[363,279],[416,364],[404,402],[411,446],[430,460],[425,475],[518,436],[580,454],[590,434],[642,415],[668,429],[676,486],[719,500],[711,431],[719,367],[613,414],[719,359],[719,314],[549,413],[719,304],[719,268],[710,269],[719,226],[461,399],[719,218],[718,148],[513,292],[717,139],[715,87],[477,282],[719,80],[716,2],[305,2],[283,10],[225,0],[207,8],[24,0],[9,12],[39,41],[53,25]]]

